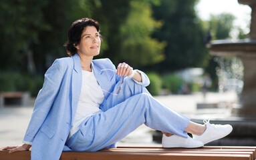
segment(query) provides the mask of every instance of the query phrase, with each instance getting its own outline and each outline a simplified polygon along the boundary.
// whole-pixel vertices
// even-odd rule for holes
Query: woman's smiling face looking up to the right
[[[88,26],[84,28],[80,44],[76,45],[76,49],[80,55],[94,57],[100,54],[100,43],[100,33],[98,33],[96,27]]]

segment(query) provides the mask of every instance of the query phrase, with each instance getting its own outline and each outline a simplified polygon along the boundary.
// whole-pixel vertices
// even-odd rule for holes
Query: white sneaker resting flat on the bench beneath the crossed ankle
[[[196,141],[195,139],[188,136],[188,138],[180,137],[178,135],[171,135],[167,137],[166,135],[162,135],[162,147],[164,148],[198,148],[203,147],[203,143],[201,141]]]

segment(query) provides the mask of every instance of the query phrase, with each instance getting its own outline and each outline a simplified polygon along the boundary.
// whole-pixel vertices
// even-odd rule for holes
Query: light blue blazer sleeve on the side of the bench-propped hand
[[[49,110],[55,101],[62,79],[63,71],[61,69],[61,60],[56,59],[53,65],[51,65],[45,73],[43,87],[35,100],[33,113],[23,142],[29,144],[33,142],[35,135],[39,131],[43,121],[45,121]]]

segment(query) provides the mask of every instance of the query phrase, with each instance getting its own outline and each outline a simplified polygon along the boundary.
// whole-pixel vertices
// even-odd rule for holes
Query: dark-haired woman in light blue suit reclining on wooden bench
[[[70,57],[56,59],[45,73],[23,145],[31,159],[59,159],[62,151],[98,151],[115,147],[143,123],[162,131],[163,147],[202,147],[225,137],[231,125],[200,125],[156,101],[146,90],[148,77],[126,63],[117,69],[100,53],[97,21],[79,19],[64,45]],[[193,139],[187,133],[192,133]]]

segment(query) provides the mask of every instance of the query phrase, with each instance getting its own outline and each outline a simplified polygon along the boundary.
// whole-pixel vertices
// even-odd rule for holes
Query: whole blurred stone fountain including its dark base
[[[233,132],[224,139],[207,145],[251,145],[256,146],[256,1],[238,0],[249,5],[251,12],[251,31],[247,39],[238,41],[217,40],[209,45],[210,54],[236,56],[243,62],[243,91],[239,103],[233,106],[231,117],[213,119],[212,123],[229,123]],[[200,122],[199,119],[195,121]]]

